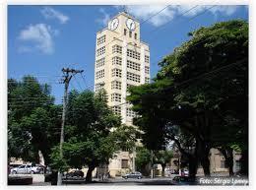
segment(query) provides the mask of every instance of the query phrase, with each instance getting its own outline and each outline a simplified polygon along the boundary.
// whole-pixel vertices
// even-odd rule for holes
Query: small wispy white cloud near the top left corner
[[[45,19],[57,19],[61,24],[66,24],[69,21],[68,16],[62,14],[59,11],[56,11],[51,7],[44,7],[41,10],[41,14]]]

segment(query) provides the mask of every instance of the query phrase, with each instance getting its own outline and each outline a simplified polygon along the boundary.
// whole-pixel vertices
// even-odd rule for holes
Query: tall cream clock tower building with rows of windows
[[[122,123],[132,125],[135,112],[126,102],[127,89],[150,83],[150,48],[141,40],[140,23],[121,12],[96,33],[95,92],[104,89],[108,105],[121,115]],[[110,160],[111,175],[134,167],[134,155],[120,152]]]

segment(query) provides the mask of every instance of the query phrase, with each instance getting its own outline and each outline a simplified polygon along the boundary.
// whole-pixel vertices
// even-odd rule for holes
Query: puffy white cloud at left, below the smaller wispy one
[[[54,51],[52,35],[57,33],[50,26],[45,24],[36,24],[27,27],[19,34],[19,39],[27,44],[19,47],[19,52],[31,52],[38,49],[45,54],[51,54]]]

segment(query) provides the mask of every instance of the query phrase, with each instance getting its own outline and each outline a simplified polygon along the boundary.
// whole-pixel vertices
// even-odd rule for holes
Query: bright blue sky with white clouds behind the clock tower
[[[141,25],[142,40],[150,44],[152,78],[160,59],[187,40],[188,32],[221,21],[248,20],[247,6],[144,5],[126,9],[141,22],[152,17]],[[31,74],[51,85],[59,103],[64,89],[58,83],[61,69],[70,66],[85,70],[85,80],[77,75],[70,90],[93,90],[96,32],[120,10],[120,6],[8,6],[8,78],[21,80]]]

